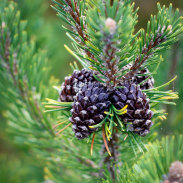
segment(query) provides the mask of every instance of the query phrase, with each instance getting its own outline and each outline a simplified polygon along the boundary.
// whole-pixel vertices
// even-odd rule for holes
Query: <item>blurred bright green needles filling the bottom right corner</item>
[[[164,137],[149,146],[148,152],[134,165],[139,182],[160,182],[168,173],[171,163],[183,161],[183,137]]]

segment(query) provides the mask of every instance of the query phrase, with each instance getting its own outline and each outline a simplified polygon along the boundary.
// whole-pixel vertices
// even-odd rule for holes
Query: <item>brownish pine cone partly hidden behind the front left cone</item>
[[[93,71],[82,69],[74,71],[72,76],[65,77],[60,91],[61,102],[72,102],[77,92],[88,82],[96,81],[93,77]]]

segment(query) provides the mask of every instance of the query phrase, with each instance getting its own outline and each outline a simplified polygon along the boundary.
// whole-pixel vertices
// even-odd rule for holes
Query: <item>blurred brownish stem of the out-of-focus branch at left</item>
[[[52,136],[55,136],[54,132],[52,129],[49,129],[47,125],[45,125],[42,122],[42,112],[40,110],[40,106],[38,104],[38,101],[33,97],[33,91],[28,90],[28,84],[27,80],[23,79],[20,81],[20,79],[17,78],[16,75],[20,74],[17,63],[16,63],[16,52],[15,50],[13,53],[10,54],[10,46],[13,44],[12,39],[11,39],[11,31],[7,31],[6,36],[5,36],[5,41],[3,40],[3,33],[5,34],[3,30],[3,26],[0,27],[1,29],[1,37],[0,37],[0,42],[2,43],[4,47],[4,52],[3,50],[0,50],[0,58],[5,64],[5,68],[7,69],[7,73],[10,75],[10,79],[14,83],[14,87],[16,87],[17,91],[19,92],[21,99],[25,102],[28,108],[30,108],[30,113],[34,118],[39,122],[42,128],[46,128],[49,133]],[[10,56],[13,55],[13,64],[10,63]],[[32,99],[32,100],[31,100]],[[37,110],[35,110],[35,108]]]

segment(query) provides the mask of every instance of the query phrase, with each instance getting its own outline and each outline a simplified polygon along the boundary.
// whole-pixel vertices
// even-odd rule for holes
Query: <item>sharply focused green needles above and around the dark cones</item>
[[[67,50],[73,54],[84,67],[98,70],[99,76],[95,76],[98,81],[106,83],[107,86],[116,87],[122,81],[133,77],[137,70],[155,65],[153,73],[162,61],[160,53],[175,43],[182,35],[182,18],[179,17],[178,10],[173,13],[172,5],[169,8],[161,7],[158,3],[157,16],[151,16],[147,25],[147,33],[141,29],[134,33],[137,23],[137,11],[134,11],[134,4],[131,1],[69,1],[62,0],[61,3],[55,2],[54,8],[62,20],[67,22],[71,30],[66,29],[66,33],[76,52]],[[86,6],[86,9],[81,9]],[[86,20],[83,20],[83,16]],[[76,36],[77,34],[77,36]],[[124,69],[128,63],[132,63],[129,69]],[[151,110],[154,111],[153,120],[157,117],[165,118],[165,112],[157,110],[158,104],[175,104],[168,100],[177,99],[177,93],[171,90],[160,91],[168,86],[171,81],[150,90],[145,90],[151,103]],[[70,110],[63,103],[54,102],[52,111]],[[70,104],[69,104],[70,105]],[[55,109],[54,109],[55,108]],[[105,124],[105,133],[108,139],[111,138],[114,126],[120,131],[128,134],[128,129],[119,120],[118,115],[124,114],[111,107],[106,113],[106,118],[93,127],[102,127]],[[114,119],[115,116],[117,120]],[[101,129],[101,128],[99,128]],[[107,130],[108,129],[108,130]],[[108,133],[109,131],[109,133]]]

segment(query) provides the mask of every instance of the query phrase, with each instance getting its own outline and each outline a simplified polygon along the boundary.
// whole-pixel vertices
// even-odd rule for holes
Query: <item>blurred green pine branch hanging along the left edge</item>
[[[15,8],[14,8],[15,7]],[[12,11],[12,17],[8,17],[9,12]],[[14,17],[13,17],[14,16]],[[28,43],[26,40],[25,32],[21,32],[25,27],[24,22],[19,22],[20,14],[16,10],[15,4],[10,4],[9,7],[2,13],[0,19],[0,64],[1,71],[0,75],[2,83],[0,85],[2,95],[12,103],[12,101],[19,101],[19,104],[15,104],[18,107],[24,107],[29,111],[30,115],[38,122],[42,129],[45,129],[54,136],[54,132],[50,128],[47,121],[43,121],[44,115],[40,109],[40,101],[37,99],[37,93],[35,91],[40,87],[39,67],[42,65],[41,62],[45,59],[43,52],[38,55],[34,51],[34,45]],[[12,26],[13,18],[16,18]],[[15,30],[16,27],[16,31]],[[15,35],[17,36],[15,39]],[[21,39],[20,39],[21,38]],[[24,45],[24,47],[22,47]],[[26,68],[27,62],[30,58],[26,55],[29,54],[32,59],[32,64],[35,66],[34,69]],[[34,61],[37,63],[34,63]],[[22,62],[23,61],[23,62]],[[37,76],[29,77],[29,74],[38,72]],[[38,85],[37,85],[38,84]],[[12,93],[11,97],[6,95],[6,89]],[[10,99],[11,98],[11,99]]]

